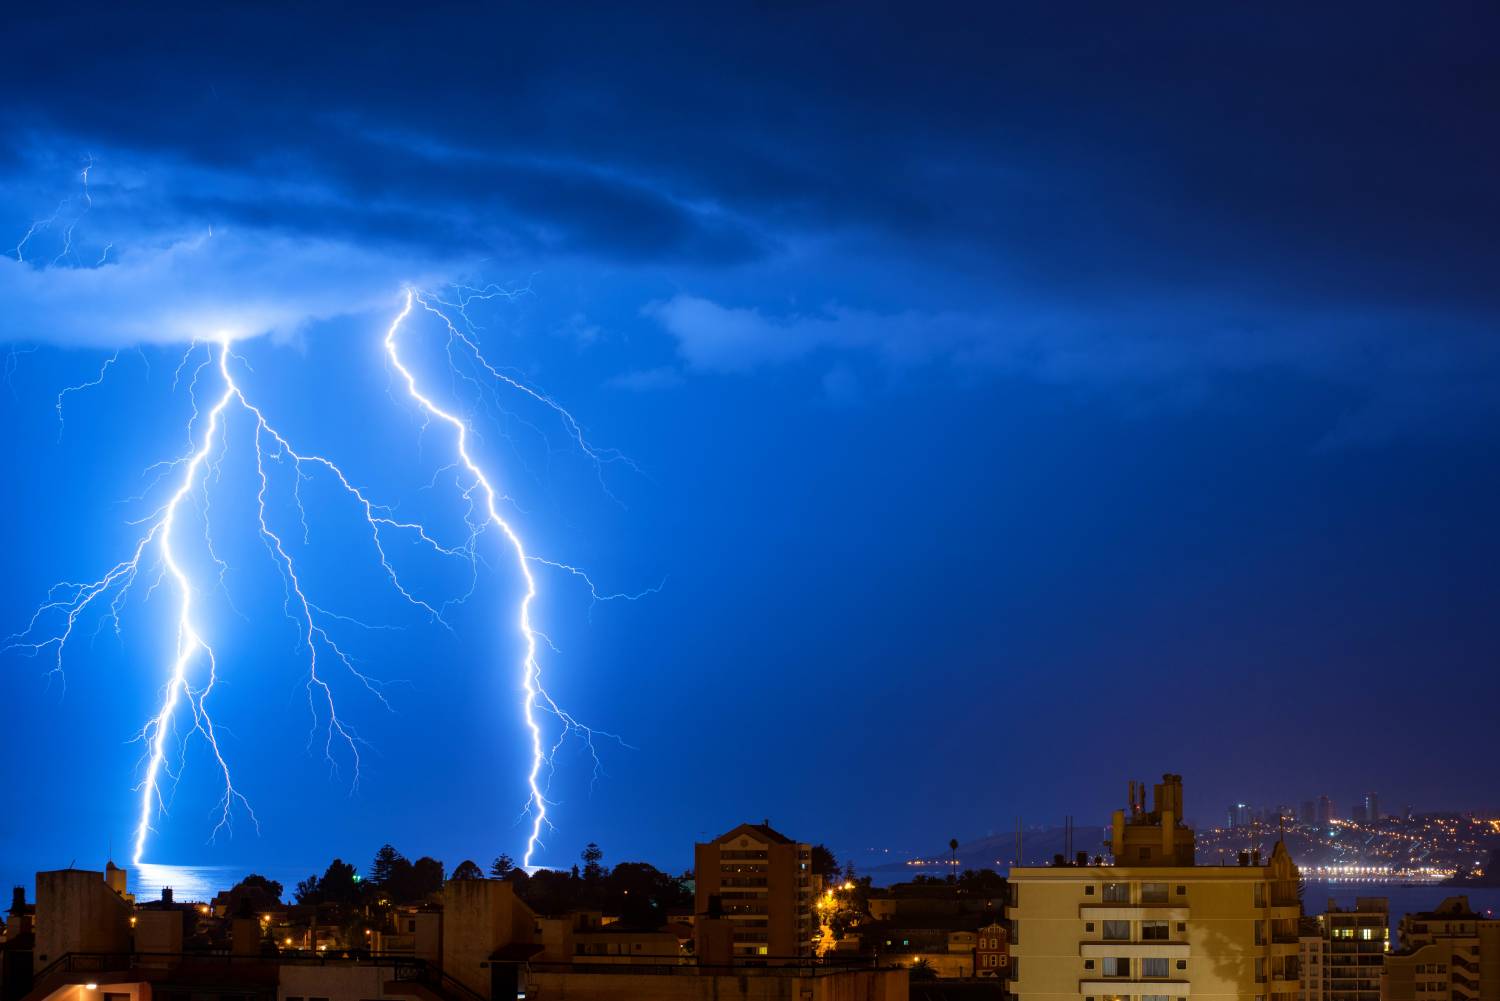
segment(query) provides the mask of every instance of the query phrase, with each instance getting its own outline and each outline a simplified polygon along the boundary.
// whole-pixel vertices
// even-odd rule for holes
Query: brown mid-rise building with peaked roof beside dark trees
[[[696,912],[700,920],[724,920],[732,959],[771,962],[813,954],[813,903],[820,887],[813,876],[812,845],[770,824],[741,824],[694,846],[693,873]]]

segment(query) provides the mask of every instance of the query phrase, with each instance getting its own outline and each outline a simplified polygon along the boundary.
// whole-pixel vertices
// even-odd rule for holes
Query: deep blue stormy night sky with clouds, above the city
[[[610,591],[666,578],[594,608],[542,578],[554,693],[630,744],[602,744],[592,789],[560,755],[542,861],[597,839],[680,867],[760,818],[926,851],[1102,818],[1164,770],[1204,822],[1366,788],[1500,803],[1492,8],[182,5],[3,27],[0,621],[124,555],[159,501],[132,500],[141,470],[184,446],[172,371],[219,330],[290,437],[456,531],[447,441],[380,338],[404,285],[501,282],[528,291],[472,311],[489,357],[640,473],[602,486],[550,414],[450,378],[430,321],[423,371],[534,549]],[[60,432],[58,390],[117,348]],[[351,794],[348,762],[304,747],[230,431],[210,524],[231,570],[202,608],[261,833],[206,843],[189,744],[152,855],[518,854],[506,561],[435,627],[309,488],[321,600],[400,627],[345,636],[394,681],[392,713],[348,693]],[[440,597],[468,587],[406,558]],[[128,741],[166,666],[170,603],[144,599],[118,638],[80,627],[66,692],[3,660],[8,878],[123,854]]]

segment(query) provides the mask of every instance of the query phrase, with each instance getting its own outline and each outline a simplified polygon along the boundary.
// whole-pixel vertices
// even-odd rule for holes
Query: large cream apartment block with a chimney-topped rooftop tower
[[[1298,1001],[1298,869],[1282,845],[1262,863],[1198,866],[1182,779],[1155,804],[1131,783],[1114,864],[1011,869],[1011,993],[1018,1001]]]

